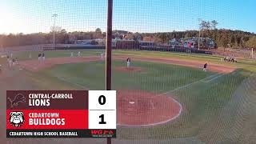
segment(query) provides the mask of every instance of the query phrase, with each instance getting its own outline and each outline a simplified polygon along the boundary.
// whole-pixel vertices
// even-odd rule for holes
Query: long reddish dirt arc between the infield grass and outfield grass
[[[113,58],[116,60],[122,60],[126,62],[126,58],[128,56],[121,55],[121,56],[114,56]],[[130,56],[129,56],[130,57]],[[142,62],[158,62],[158,63],[165,63],[165,64],[173,64],[179,66],[189,66],[193,68],[202,69],[202,66],[205,62],[195,61],[195,60],[185,60],[185,59],[178,59],[178,58],[150,58],[150,57],[138,57],[138,56],[131,56],[132,61],[142,61]],[[77,62],[97,62],[103,61],[104,59],[91,56],[91,57],[76,57],[76,58],[47,58],[44,62],[39,62],[38,60],[26,60],[19,62],[19,64],[25,67],[27,70],[38,71],[46,68],[50,68],[51,66],[58,65],[58,64],[66,64],[66,63],[77,63]],[[223,66],[221,64],[214,64],[208,63],[208,70],[223,74],[228,74],[236,70],[236,68],[231,66]]]

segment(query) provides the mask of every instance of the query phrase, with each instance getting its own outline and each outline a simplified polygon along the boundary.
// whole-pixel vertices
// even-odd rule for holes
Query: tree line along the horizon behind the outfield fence
[[[200,37],[212,38],[218,47],[238,49],[256,47],[256,34],[242,30],[217,29],[217,25],[218,22],[216,21],[201,21],[199,23]],[[65,29],[57,27],[51,30],[50,33],[0,34],[0,47],[50,44],[53,43],[53,33],[55,33],[55,43],[57,44],[72,44],[77,40],[106,38],[106,32],[102,32],[99,28],[89,32],[67,32]],[[198,36],[199,30],[166,33],[132,33],[125,30],[113,30],[113,38],[144,40],[158,44],[167,44],[173,38],[180,39]]]

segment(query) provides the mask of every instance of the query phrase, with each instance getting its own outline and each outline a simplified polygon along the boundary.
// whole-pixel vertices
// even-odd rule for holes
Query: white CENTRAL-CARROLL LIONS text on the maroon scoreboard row
[[[50,99],[73,99],[72,94],[29,94],[29,106],[50,106]]]

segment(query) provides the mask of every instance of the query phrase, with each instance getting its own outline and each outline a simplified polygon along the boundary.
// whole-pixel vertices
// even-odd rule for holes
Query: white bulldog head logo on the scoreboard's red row
[[[10,112],[10,125],[14,127],[20,127],[24,123],[24,115],[23,112]]]

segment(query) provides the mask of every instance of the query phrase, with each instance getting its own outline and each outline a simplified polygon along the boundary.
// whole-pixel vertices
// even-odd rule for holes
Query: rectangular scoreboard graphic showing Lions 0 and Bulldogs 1
[[[9,99],[22,104],[6,105],[7,138],[116,137],[115,90],[8,90]]]

